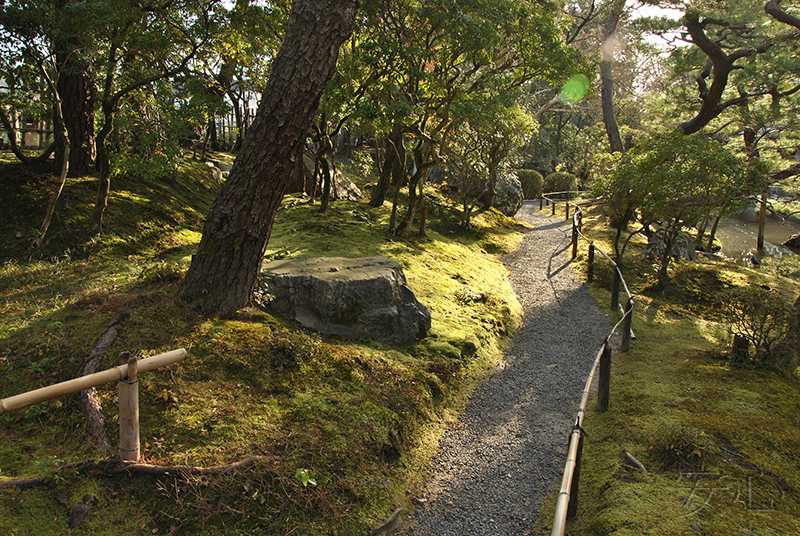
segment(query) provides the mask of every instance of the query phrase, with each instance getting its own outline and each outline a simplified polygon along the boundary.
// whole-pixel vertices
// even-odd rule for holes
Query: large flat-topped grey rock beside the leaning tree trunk
[[[386,257],[318,257],[265,263],[269,308],[322,333],[410,344],[431,327],[400,264]]]

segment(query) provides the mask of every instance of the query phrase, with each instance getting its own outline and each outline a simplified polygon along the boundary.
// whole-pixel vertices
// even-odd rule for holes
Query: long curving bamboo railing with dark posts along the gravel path
[[[583,238],[589,244],[588,250],[588,269],[587,279],[591,283],[594,277],[594,262],[596,253],[599,253],[603,258],[611,263],[614,270],[614,281],[611,288],[611,309],[615,310],[618,307],[622,311],[622,318],[611,329],[611,332],[606,337],[597,357],[592,365],[592,370],[586,380],[586,385],[583,389],[581,397],[581,405],[578,409],[578,414],[575,418],[575,424],[572,427],[569,437],[569,447],[567,450],[567,461],[564,465],[564,475],[561,479],[561,490],[558,494],[556,502],[556,512],[553,519],[552,536],[564,536],[566,532],[567,520],[575,517],[578,511],[578,487],[580,482],[581,470],[581,454],[583,451],[583,421],[586,415],[586,406],[589,402],[589,393],[592,388],[595,374],[599,371],[599,384],[597,390],[597,411],[603,412],[608,409],[608,399],[610,391],[611,380],[611,338],[616,334],[617,330],[622,326],[622,340],[620,343],[620,351],[627,352],[630,341],[635,338],[633,330],[631,329],[631,321],[633,318],[633,296],[628,288],[625,279],[622,277],[622,272],[614,260],[609,257],[602,249],[594,245],[582,232],[583,229],[583,211],[580,206],[570,203],[570,194],[578,194],[579,192],[555,192],[557,194],[567,194],[567,200],[564,202],[566,205],[565,213],[566,219],[570,219],[569,207],[574,207],[572,216],[572,260],[578,256],[578,241]],[[552,195],[552,194],[551,194]],[[553,206],[553,215],[555,215],[555,204],[553,199],[547,196],[542,196],[539,199],[539,209],[544,206],[544,200],[547,200]],[[627,294],[627,301],[623,309],[619,303],[620,287],[624,288]]]

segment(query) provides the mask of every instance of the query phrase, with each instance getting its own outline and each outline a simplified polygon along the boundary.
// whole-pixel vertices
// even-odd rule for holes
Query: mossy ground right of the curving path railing
[[[585,232],[611,251],[600,210],[589,214]],[[662,292],[640,252],[637,245],[628,253],[625,270],[637,340],[629,353],[614,354],[608,412],[597,413],[590,401],[579,511],[568,533],[800,534],[800,383],[777,371],[728,366],[723,350],[731,336],[716,300],[726,287],[769,285],[793,302],[800,263],[773,260],[758,270],[681,263]],[[611,272],[596,273],[590,291],[608,307]],[[679,426],[703,430],[713,442],[699,462],[659,455],[659,438]],[[624,451],[648,473],[627,468]],[[555,499],[546,501],[545,525]]]

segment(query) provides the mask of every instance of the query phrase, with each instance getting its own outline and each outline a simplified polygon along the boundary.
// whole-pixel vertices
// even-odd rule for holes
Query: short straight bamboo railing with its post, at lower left
[[[41,387],[0,400],[0,415],[27,408],[78,391],[98,387],[104,383],[119,382],[120,458],[139,460],[139,384],[138,374],[171,365],[186,358],[186,350],[179,348],[137,361],[135,357],[125,365],[81,376],[73,380]]]

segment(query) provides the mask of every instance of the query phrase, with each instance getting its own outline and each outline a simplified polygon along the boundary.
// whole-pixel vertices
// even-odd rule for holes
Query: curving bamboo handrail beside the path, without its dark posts
[[[556,193],[570,193],[570,192],[556,192]],[[547,199],[551,203],[554,203],[553,200],[547,198],[546,196],[542,195],[543,198]],[[568,202],[569,203],[569,202]],[[600,252],[600,255],[605,257],[613,266],[614,270],[616,270],[616,274],[619,275],[619,280],[622,283],[623,288],[625,289],[625,293],[628,295],[628,307],[623,311],[622,318],[617,322],[614,327],[611,329],[611,333],[606,338],[605,342],[600,348],[600,351],[597,353],[597,357],[594,360],[594,364],[592,365],[592,370],[589,373],[589,377],[586,380],[586,386],[583,390],[583,396],[581,397],[581,405],[578,409],[578,414],[575,419],[575,425],[572,427],[572,432],[570,433],[569,438],[569,448],[567,449],[567,461],[564,464],[564,476],[561,480],[561,490],[558,494],[558,499],[556,501],[556,511],[554,514],[553,519],[553,531],[552,536],[564,536],[566,533],[567,527],[567,518],[570,515],[574,515],[574,508],[577,507],[577,504],[573,504],[573,512],[570,514],[570,502],[572,500],[577,499],[575,497],[575,493],[573,493],[574,489],[577,489],[577,475],[580,472],[579,461],[581,450],[583,446],[582,436],[583,436],[583,419],[586,414],[586,405],[589,400],[589,392],[591,391],[592,382],[594,381],[594,376],[597,373],[598,367],[600,367],[600,362],[603,355],[606,353],[607,349],[610,350],[610,341],[611,337],[617,332],[617,329],[621,325],[625,325],[626,329],[629,330],[629,333],[633,333],[633,330],[630,329],[630,319],[631,315],[633,314],[633,296],[631,295],[630,289],[628,288],[628,284],[625,282],[625,278],[622,277],[622,271],[619,268],[619,265],[614,262],[614,260],[609,257],[602,249],[597,247],[593,241],[587,238],[581,229],[579,228],[579,218],[582,219],[583,213],[581,211],[580,206],[574,203],[569,203],[573,207],[575,207],[575,211],[572,216],[572,229],[573,229],[573,240],[577,240],[577,236],[582,237],[586,240],[590,247],[594,251]],[[627,350],[627,344],[624,344],[625,350]],[[609,356],[610,357],[610,356]],[[601,386],[602,388],[603,386]],[[606,397],[607,398],[607,397]],[[574,480],[574,481],[573,481]]]

